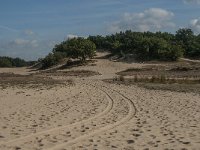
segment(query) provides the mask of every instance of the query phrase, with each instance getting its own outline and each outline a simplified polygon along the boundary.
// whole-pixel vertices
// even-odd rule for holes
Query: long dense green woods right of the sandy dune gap
[[[180,57],[200,58],[200,35],[191,29],[167,32],[132,32],[130,30],[108,36],[89,36],[97,49],[113,54],[132,54],[138,60],[175,61]]]

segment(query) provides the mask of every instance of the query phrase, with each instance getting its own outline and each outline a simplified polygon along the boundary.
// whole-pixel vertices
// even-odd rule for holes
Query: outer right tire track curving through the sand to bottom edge
[[[97,88],[95,85],[91,85],[91,84],[87,84],[87,85],[90,85],[90,86],[93,86],[93,87]],[[110,88],[107,88],[105,86],[102,86],[102,87],[106,88],[107,90],[111,90]],[[102,90],[100,88],[97,88],[97,89],[105,92],[105,90]],[[137,111],[136,106],[134,105],[134,103],[132,102],[132,100],[129,99],[128,97],[126,97],[125,95],[123,95],[122,93],[116,91],[116,90],[112,89],[111,91],[114,91],[115,93],[118,93],[119,95],[121,95],[123,98],[126,99],[128,105],[129,105],[129,112],[128,112],[128,115],[125,118],[123,118],[123,119],[121,119],[121,120],[119,120],[119,121],[117,121],[117,122],[115,122],[113,124],[109,124],[107,126],[99,128],[97,130],[94,130],[94,131],[92,131],[92,132],[90,132],[88,134],[85,134],[83,136],[79,136],[79,137],[77,137],[77,138],[75,138],[73,140],[70,140],[70,141],[66,142],[66,143],[57,144],[56,146],[51,147],[51,148],[47,148],[45,150],[60,150],[60,149],[64,149],[64,148],[72,146],[73,144],[76,144],[76,143],[78,143],[78,142],[80,142],[80,141],[82,141],[84,139],[87,139],[87,138],[89,138],[91,136],[94,136],[96,134],[105,132],[107,130],[113,129],[113,128],[115,128],[115,127],[117,127],[119,125],[122,125],[122,124],[128,122],[129,120],[131,120],[136,115],[136,111]],[[107,93],[107,92],[105,92],[105,93]]]

